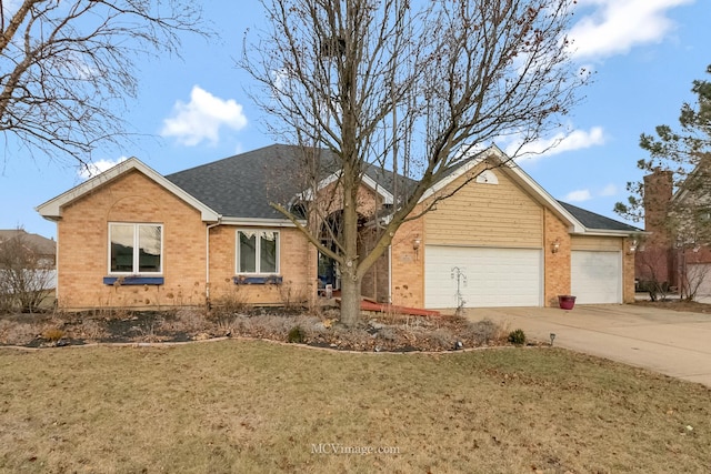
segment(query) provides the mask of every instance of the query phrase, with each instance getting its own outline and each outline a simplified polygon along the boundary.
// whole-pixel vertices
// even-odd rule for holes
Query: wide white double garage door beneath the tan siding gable
[[[541,250],[427,245],[425,307],[540,306]],[[459,279],[458,279],[459,276]]]

